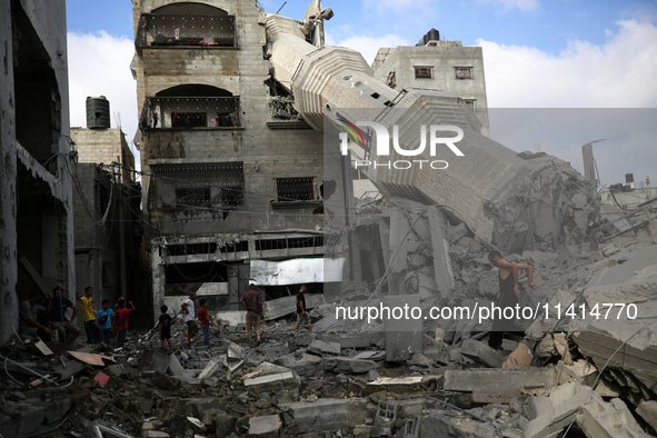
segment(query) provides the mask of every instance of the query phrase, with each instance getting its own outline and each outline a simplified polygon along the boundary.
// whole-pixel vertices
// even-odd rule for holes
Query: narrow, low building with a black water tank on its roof
[[[121,128],[110,128],[110,102],[87,98],[87,128],[71,128],[74,166],[76,283],[94,289],[97,302],[120,296],[151,307],[150,271],[143,250],[141,185],[135,155]]]

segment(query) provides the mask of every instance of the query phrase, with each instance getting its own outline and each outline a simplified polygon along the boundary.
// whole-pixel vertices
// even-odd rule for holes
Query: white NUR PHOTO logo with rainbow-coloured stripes
[[[365,150],[368,150],[371,145],[367,145],[365,141],[365,137],[360,131],[359,127],[367,127],[374,130],[376,136],[376,156],[379,157],[389,157],[390,156],[390,133],[388,129],[378,122],[375,121],[357,121],[356,123],[351,123],[350,121],[338,118],[340,122],[340,127],[346,130],[346,132],[340,132],[340,151],[344,156],[347,155],[349,150],[349,136],[354,139],[356,145],[359,145]],[[445,132],[456,132],[455,137],[441,137]],[[437,147],[438,145],[446,145],[457,157],[464,157],[464,152],[455,145],[464,139],[464,130],[454,125],[431,125],[429,126],[429,156],[436,157]],[[402,149],[399,146],[399,127],[397,125],[392,126],[392,148],[395,152],[402,157],[418,157],[425,153],[425,149],[427,148],[427,126],[422,125],[420,127],[420,145],[416,149]],[[371,157],[371,155],[370,155]],[[449,163],[445,160],[428,160],[428,159],[415,159],[415,160],[388,160],[388,161],[377,161],[374,159],[367,160],[355,160],[355,166],[358,167],[374,167],[377,168],[387,168],[387,169],[410,169],[412,166],[419,166],[421,169],[422,166],[428,166],[431,169],[447,169]]]

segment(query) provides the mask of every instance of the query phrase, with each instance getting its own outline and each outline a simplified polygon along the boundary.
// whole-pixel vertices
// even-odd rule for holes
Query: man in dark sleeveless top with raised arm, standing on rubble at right
[[[499,251],[492,250],[488,252],[488,261],[490,265],[499,268],[499,295],[497,297],[497,306],[504,309],[511,307],[515,309],[518,305],[518,297],[520,296],[520,289],[518,288],[518,270],[527,271],[527,285],[532,289],[538,289],[538,286],[531,282],[534,278],[534,270],[531,266],[525,263],[514,263],[505,260]],[[494,312],[495,317],[495,312]],[[514,323],[514,319],[494,318],[492,330],[488,338],[488,345],[491,348],[498,349],[501,347],[501,341],[505,331],[518,331],[518,327]]]

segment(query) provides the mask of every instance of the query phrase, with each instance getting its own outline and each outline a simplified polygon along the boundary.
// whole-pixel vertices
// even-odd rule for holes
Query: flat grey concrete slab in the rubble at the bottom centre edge
[[[362,398],[320,398],[315,402],[296,401],[279,407],[293,419],[296,434],[351,428],[375,416],[374,407],[368,406],[367,399]]]

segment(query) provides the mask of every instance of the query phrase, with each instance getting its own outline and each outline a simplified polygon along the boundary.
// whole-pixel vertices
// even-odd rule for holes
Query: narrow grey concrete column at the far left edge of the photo
[[[4,66],[9,69],[0,69],[0,152],[2,167],[0,167],[0,246],[2,267],[0,267],[0,283],[2,297],[0,297],[0,341],[7,342],[12,334],[11,325],[18,328],[18,297],[16,296],[16,282],[18,272],[17,262],[17,197],[16,197],[16,118],[13,96],[13,43],[11,38],[11,7],[9,1],[0,2],[0,58],[4,59]]]

